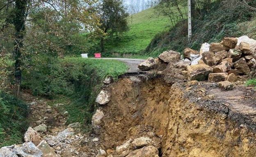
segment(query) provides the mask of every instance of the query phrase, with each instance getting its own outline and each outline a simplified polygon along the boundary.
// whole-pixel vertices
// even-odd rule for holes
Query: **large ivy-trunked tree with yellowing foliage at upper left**
[[[91,9],[96,0],[0,0],[0,42],[13,40],[14,77],[19,95],[22,71],[28,55],[62,52],[75,44],[73,35],[99,30]],[[54,40],[52,40],[54,39]],[[9,50],[7,50],[8,52]],[[1,60],[0,60],[1,61]]]

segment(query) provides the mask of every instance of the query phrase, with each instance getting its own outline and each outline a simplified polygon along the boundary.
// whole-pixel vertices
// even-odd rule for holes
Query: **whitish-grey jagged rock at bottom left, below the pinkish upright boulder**
[[[21,146],[14,146],[14,153],[19,157],[41,157],[42,151],[37,148],[32,142],[27,142]]]

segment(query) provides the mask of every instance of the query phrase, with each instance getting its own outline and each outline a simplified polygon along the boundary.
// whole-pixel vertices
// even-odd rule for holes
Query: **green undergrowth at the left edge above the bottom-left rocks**
[[[8,93],[0,92],[0,147],[21,144],[28,127],[27,105]]]

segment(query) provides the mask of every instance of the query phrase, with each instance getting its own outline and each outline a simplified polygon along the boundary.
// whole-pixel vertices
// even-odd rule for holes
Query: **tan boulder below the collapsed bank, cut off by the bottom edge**
[[[129,153],[126,157],[159,157],[158,148],[146,146]]]

